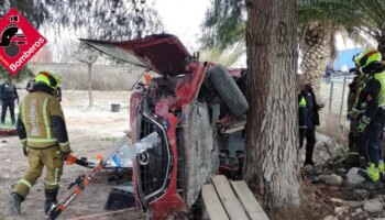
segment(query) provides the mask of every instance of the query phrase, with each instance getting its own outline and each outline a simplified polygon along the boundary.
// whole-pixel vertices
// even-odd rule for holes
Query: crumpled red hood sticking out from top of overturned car
[[[186,73],[186,63],[191,57],[179,38],[170,34],[150,35],[124,42],[86,38],[80,41],[114,58],[147,67],[162,75]]]

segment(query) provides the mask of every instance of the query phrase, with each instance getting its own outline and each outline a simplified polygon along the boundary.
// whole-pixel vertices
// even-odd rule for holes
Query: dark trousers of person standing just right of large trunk
[[[306,158],[305,165],[314,165],[312,152],[315,151],[316,144],[316,127],[310,127],[309,129],[299,130],[299,146],[302,147],[304,139],[306,138]]]

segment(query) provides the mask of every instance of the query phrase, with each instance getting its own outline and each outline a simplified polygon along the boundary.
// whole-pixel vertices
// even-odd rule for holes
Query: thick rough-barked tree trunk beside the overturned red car
[[[267,207],[300,204],[295,0],[248,0],[244,179]]]

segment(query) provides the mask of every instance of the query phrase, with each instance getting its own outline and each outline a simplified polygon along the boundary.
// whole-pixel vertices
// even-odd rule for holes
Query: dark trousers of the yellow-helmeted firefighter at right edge
[[[364,151],[369,163],[374,163],[378,167],[378,161],[382,156],[382,140],[384,135],[385,111],[381,110],[371,121],[365,131]]]

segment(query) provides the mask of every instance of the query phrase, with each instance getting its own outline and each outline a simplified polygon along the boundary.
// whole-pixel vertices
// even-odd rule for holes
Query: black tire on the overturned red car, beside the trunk
[[[241,117],[249,110],[249,103],[234,79],[224,66],[216,65],[207,70],[208,77],[234,117]]]

